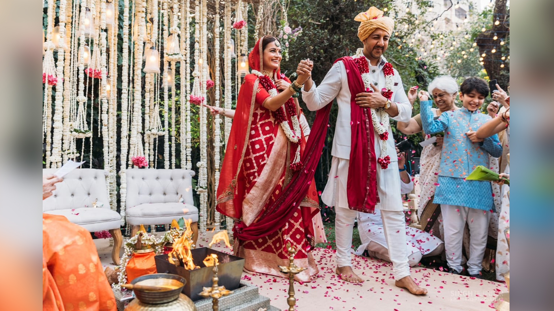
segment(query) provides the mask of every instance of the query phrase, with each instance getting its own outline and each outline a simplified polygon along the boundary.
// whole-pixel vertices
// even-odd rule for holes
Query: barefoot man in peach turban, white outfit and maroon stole
[[[398,158],[389,125],[389,117],[408,122],[412,116],[402,79],[383,57],[394,21],[375,7],[355,20],[361,22],[358,38],[363,55],[338,59],[319,86],[309,79],[302,88],[302,100],[311,111],[335,98],[338,103],[331,170],[321,195],[325,204],[336,207],[336,273],[345,281],[363,282],[352,271],[352,228],[358,211],[378,208],[396,286],[426,294],[410,276],[400,180],[394,165]],[[312,67],[312,61],[302,60],[297,74],[309,74]]]

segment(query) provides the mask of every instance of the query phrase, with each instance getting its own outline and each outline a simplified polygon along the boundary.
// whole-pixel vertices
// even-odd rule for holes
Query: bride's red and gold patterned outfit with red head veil
[[[258,71],[261,71],[261,40],[263,37],[249,55],[250,68]],[[274,70],[274,76],[280,76],[279,70]],[[269,92],[261,86],[257,75],[244,77],[223,160],[217,210],[235,219],[234,252],[245,258],[245,271],[286,277],[279,271],[279,266],[288,266],[286,244],[290,242],[297,249],[295,264],[305,268],[295,278],[309,282],[318,272],[310,252],[314,241],[312,217],[319,213],[313,172],[308,181],[310,185],[307,191],[304,190],[307,193],[299,204],[275,208],[276,201],[283,199],[280,196],[286,186],[289,183],[294,186],[297,182],[293,176],[299,173],[295,175],[290,164],[296,148],[304,153],[306,141],[303,135],[298,144],[289,141],[275,112],[262,106],[268,97]],[[286,118],[293,128],[289,113],[286,113]],[[318,159],[319,155],[316,155]],[[283,217],[285,212],[288,214]],[[243,234],[243,230],[253,227],[257,227],[257,234]]]

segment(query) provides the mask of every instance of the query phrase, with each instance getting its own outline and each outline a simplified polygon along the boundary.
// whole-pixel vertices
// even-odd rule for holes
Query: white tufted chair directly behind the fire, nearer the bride
[[[127,199],[125,220],[135,236],[140,225],[166,225],[173,219],[192,219],[194,244],[198,239],[198,209],[192,199],[192,177],[188,169],[125,170]],[[184,204],[179,203],[182,196]]]

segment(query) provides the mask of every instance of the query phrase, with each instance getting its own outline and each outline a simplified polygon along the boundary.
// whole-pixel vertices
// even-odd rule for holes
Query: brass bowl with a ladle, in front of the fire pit
[[[133,289],[135,296],[142,303],[166,303],[175,300],[183,290],[186,280],[176,274],[154,273],[146,274],[145,276],[135,278],[131,284],[146,285],[146,286],[172,286],[174,289],[167,291],[152,292],[143,291],[142,289]]]

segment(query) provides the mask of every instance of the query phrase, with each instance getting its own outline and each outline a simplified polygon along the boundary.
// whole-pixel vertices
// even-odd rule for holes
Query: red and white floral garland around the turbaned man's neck
[[[373,92],[371,88],[370,68],[366,57],[362,55],[359,58],[355,58],[354,62],[358,66],[358,70],[362,76],[363,85],[366,87],[366,92]],[[386,99],[391,100],[393,94],[392,87],[394,86],[394,70],[391,63],[384,64],[383,73],[385,87],[381,90],[381,94],[386,97]],[[381,122],[377,119],[377,113],[381,116]],[[377,131],[377,134],[379,134],[379,139],[381,139],[381,157],[377,159],[377,162],[381,164],[382,169],[386,169],[388,164],[391,163],[391,157],[387,154],[390,118],[388,113],[384,111],[384,108],[371,108],[371,121],[373,123],[373,128]]]

